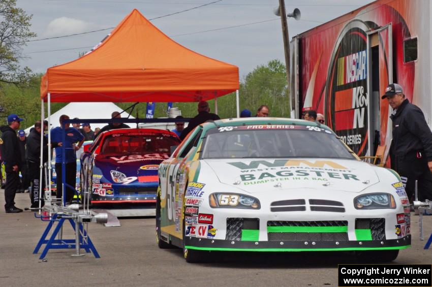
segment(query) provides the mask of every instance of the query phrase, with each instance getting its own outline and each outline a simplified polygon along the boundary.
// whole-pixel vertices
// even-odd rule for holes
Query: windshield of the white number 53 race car
[[[207,132],[202,158],[258,157],[355,158],[333,133],[316,126],[246,125]]]

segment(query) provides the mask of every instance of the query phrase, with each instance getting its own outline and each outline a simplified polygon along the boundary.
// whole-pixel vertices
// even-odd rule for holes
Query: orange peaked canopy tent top
[[[238,89],[238,67],[171,40],[134,9],[98,48],[51,67],[51,102],[197,102]]]

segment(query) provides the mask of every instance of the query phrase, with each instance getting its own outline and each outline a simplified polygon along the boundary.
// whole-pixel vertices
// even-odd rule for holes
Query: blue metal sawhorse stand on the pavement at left
[[[36,214],[35,214],[36,216]],[[48,253],[49,249],[74,249],[76,248],[75,239],[55,239],[58,232],[60,231],[61,227],[63,227],[63,224],[65,220],[69,220],[73,230],[75,231],[75,221],[72,218],[57,218],[57,214],[54,214],[52,216],[51,220],[44,220],[43,221],[49,221],[48,226],[46,227],[44,233],[42,234],[41,239],[39,240],[38,244],[36,245],[35,250],[33,250],[33,254],[37,254],[39,249],[42,247],[42,244],[46,244],[44,250],[42,251],[41,256],[39,259],[44,259],[46,254]],[[54,226],[54,222],[57,222],[57,226],[55,227],[53,233],[51,234],[49,240],[47,240],[47,236],[51,230],[51,228]],[[83,241],[83,237],[81,234],[79,235],[79,246],[80,248],[83,248],[87,253],[93,252],[95,258],[101,258],[99,256],[98,251],[96,250],[95,245],[93,245],[93,242],[91,242],[90,237],[88,237],[87,233],[84,231],[82,224],[78,224],[79,229],[81,233],[87,237],[87,242],[85,243]]]

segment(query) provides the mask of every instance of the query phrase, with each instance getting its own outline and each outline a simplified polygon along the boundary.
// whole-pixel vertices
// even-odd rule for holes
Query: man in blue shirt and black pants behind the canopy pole
[[[62,145],[65,150],[65,166],[66,166],[66,202],[68,204],[72,203],[72,199],[75,194],[75,183],[76,183],[76,172],[77,172],[77,157],[75,151],[81,148],[84,142],[84,136],[75,127],[70,127],[70,123],[66,123],[65,133],[66,139],[63,143],[63,121],[69,119],[67,115],[60,116],[60,126],[54,127],[51,130],[51,140],[52,142]],[[78,142],[78,144],[76,144]],[[57,196],[62,193],[62,173],[61,173],[61,163],[63,161],[62,147],[55,148],[55,173],[57,174]]]

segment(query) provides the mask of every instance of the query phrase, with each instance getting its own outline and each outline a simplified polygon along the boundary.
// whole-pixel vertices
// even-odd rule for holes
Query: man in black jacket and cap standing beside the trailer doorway
[[[393,108],[393,139],[390,145],[391,168],[405,184],[410,201],[418,181],[418,199],[432,200],[432,132],[423,112],[405,99],[402,87],[390,84],[382,99]]]

